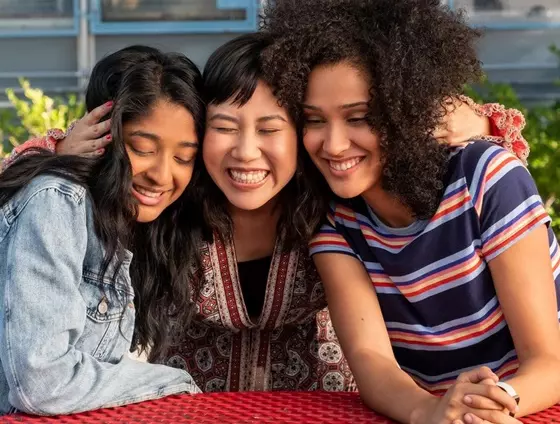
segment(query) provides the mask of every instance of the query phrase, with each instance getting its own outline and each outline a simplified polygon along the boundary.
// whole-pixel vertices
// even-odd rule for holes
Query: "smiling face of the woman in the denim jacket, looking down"
[[[197,150],[196,126],[183,106],[158,101],[152,112],[123,125],[132,167],[138,222],[155,220],[189,184]]]

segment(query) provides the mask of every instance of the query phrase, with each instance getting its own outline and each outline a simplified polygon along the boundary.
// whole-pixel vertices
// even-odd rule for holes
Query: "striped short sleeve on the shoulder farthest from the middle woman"
[[[486,149],[474,169],[469,192],[480,219],[482,254],[490,261],[550,217],[529,171],[509,152]]]

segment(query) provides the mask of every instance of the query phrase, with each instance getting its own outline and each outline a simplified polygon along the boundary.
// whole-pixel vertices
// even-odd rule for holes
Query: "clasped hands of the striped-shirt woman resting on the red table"
[[[497,387],[496,381],[497,377],[487,367],[465,372],[442,398],[434,398],[415,411],[413,421],[422,424],[520,424],[509,416],[509,411],[517,407],[515,400]],[[475,409],[465,403],[467,396],[485,398],[493,402],[493,409]]]

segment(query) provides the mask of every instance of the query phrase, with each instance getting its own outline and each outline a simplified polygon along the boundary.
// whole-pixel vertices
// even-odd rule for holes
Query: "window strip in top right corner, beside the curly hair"
[[[560,0],[454,0],[474,25],[506,29],[560,27]]]

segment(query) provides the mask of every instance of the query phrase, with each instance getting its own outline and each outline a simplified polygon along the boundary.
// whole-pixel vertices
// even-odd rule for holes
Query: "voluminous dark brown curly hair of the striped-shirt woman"
[[[277,0],[265,8],[261,31],[275,40],[261,55],[263,73],[289,109],[302,103],[318,65],[346,62],[366,72],[383,188],[417,218],[431,217],[449,158],[433,132],[444,103],[482,74],[479,32],[440,0]]]

